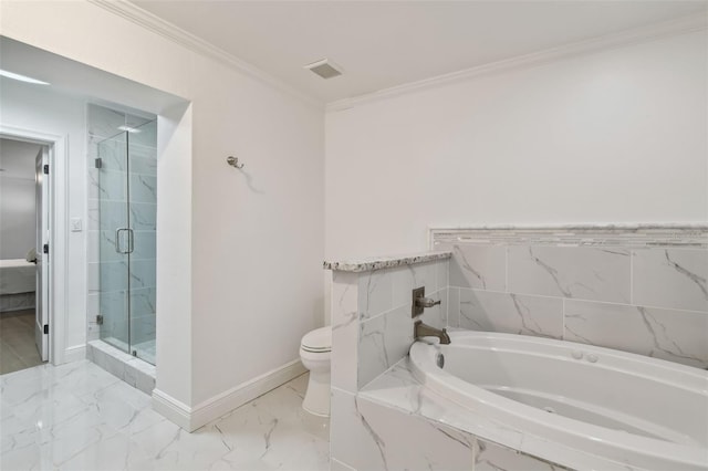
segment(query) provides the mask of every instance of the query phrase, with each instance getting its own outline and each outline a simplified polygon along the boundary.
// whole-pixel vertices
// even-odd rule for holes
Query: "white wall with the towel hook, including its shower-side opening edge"
[[[158,113],[175,136],[158,137],[157,389],[199,405],[296,359],[322,323],[323,111],[95,4],[1,13],[4,35],[191,102]]]

